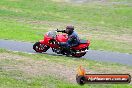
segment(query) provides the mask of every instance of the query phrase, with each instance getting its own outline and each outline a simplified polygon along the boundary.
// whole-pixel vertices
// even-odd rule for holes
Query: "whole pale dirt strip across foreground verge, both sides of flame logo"
[[[2,60],[8,60],[8,63],[2,62]],[[13,63],[9,62],[12,61]],[[76,83],[76,72],[77,65],[67,65],[64,63],[55,63],[48,61],[48,59],[34,60],[33,58],[28,58],[21,55],[0,53],[0,68],[5,71],[17,71],[20,70],[27,74],[28,76],[45,76],[52,75],[59,79],[66,80],[70,83]],[[2,64],[6,63],[6,64]],[[86,68],[85,68],[86,69]],[[93,70],[94,69],[94,70]],[[86,69],[87,73],[129,73],[132,75],[131,68],[126,66],[97,66],[91,67],[91,69]]]

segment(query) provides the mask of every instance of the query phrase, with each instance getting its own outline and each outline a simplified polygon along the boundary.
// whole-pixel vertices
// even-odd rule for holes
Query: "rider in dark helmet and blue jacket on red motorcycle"
[[[68,34],[68,40],[65,43],[60,43],[60,46],[66,50],[67,55],[69,55],[70,47],[79,45],[80,39],[78,34],[74,31],[74,26],[67,26],[66,30],[63,30],[63,33]]]

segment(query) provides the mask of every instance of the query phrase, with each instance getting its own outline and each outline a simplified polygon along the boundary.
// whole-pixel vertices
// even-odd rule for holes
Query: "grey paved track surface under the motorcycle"
[[[0,48],[7,50],[35,53],[35,51],[32,49],[32,46],[33,44],[28,42],[0,39]],[[47,51],[47,54],[55,55],[55,53],[53,53],[51,49]],[[89,50],[89,52],[87,52],[87,54],[82,58],[132,66],[132,54]]]

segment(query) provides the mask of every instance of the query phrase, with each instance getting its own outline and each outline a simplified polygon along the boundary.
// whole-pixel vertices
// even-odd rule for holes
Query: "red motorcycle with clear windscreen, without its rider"
[[[52,51],[57,54],[67,55],[67,51],[59,46],[60,42],[66,42],[68,39],[67,34],[59,33],[60,30],[49,31],[44,35],[44,39],[36,42],[33,45],[33,49],[36,52],[42,53],[46,52],[49,48],[52,48]],[[63,31],[62,31],[63,32]],[[86,54],[89,49],[90,41],[89,40],[80,40],[80,43],[76,46],[70,48],[70,55],[74,57],[82,57]],[[69,55],[69,54],[68,54]]]

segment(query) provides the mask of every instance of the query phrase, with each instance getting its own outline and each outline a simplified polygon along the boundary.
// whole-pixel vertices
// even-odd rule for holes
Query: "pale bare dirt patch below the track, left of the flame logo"
[[[30,76],[53,75],[60,79],[65,79],[71,83],[76,83],[75,75],[77,67],[68,67],[65,64],[53,63],[47,60],[33,60],[24,56],[1,53],[0,60],[13,60],[17,64],[6,64],[1,68],[8,70],[20,70]],[[17,60],[17,62],[16,62]]]

